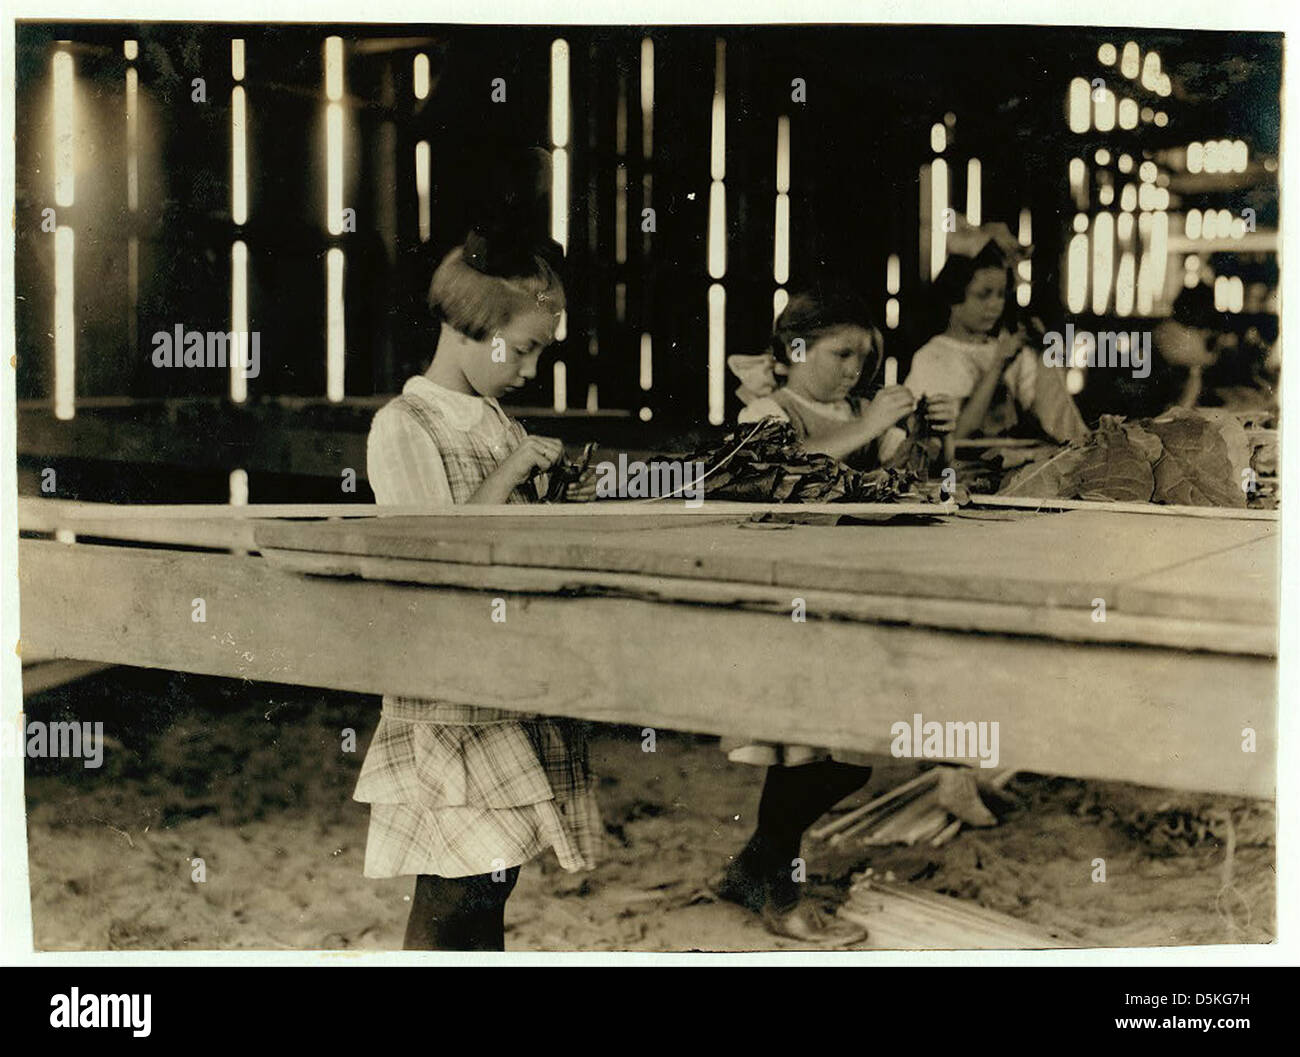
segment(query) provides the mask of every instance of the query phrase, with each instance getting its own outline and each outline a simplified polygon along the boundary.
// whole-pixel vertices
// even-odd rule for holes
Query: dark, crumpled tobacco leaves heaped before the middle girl
[[[705,464],[705,498],[762,503],[893,503],[922,498],[910,469],[858,471],[805,451],[788,423],[766,419],[684,458]]]

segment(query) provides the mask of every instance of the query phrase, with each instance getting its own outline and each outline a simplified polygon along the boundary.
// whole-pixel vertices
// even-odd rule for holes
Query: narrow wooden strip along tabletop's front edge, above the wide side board
[[[550,569],[526,566],[462,566],[361,554],[321,554],[264,549],[280,568],[309,576],[360,576],[399,584],[469,588],[528,594],[586,594],[644,598],[655,602],[737,606],[789,615],[793,595],[775,585],[692,580],[589,569]],[[952,631],[998,632],[1062,642],[1112,642],[1167,646],[1179,650],[1277,657],[1274,624],[1230,624],[1222,620],[1182,620],[1166,616],[1110,612],[1092,619],[1091,610],[1011,606],[952,598],[805,592],[800,595],[807,619],[897,623]]]

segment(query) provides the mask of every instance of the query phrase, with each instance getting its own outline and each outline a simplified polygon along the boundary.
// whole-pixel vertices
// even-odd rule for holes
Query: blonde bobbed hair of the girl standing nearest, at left
[[[488,341],[515,316],[542,311],[559,317],[564,311],[564,285],[541,254],[525,255],[523,274],[489,274],[471,264],[465,246],[442,259],[429,285],[429,308],[437,320],[471,341]]]

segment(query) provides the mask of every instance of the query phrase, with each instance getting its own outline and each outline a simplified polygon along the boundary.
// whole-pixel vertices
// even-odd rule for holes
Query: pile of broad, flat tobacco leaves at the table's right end
[[[1104,415],[1096,430],[1002,480],[1002,495],[1244,507],[1257,452],[1240,421],[1171,408]]]

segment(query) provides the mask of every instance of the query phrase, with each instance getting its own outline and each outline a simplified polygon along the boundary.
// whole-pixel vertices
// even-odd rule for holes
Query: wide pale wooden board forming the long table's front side
[[[20,576],[23,636],[58,657],[864,751],[914,712],[997,720],[1000,767],[1274,793],[1275,666],[1257,658],[623,598],[502,594],[493,623],[486,592],[38,540]]]

